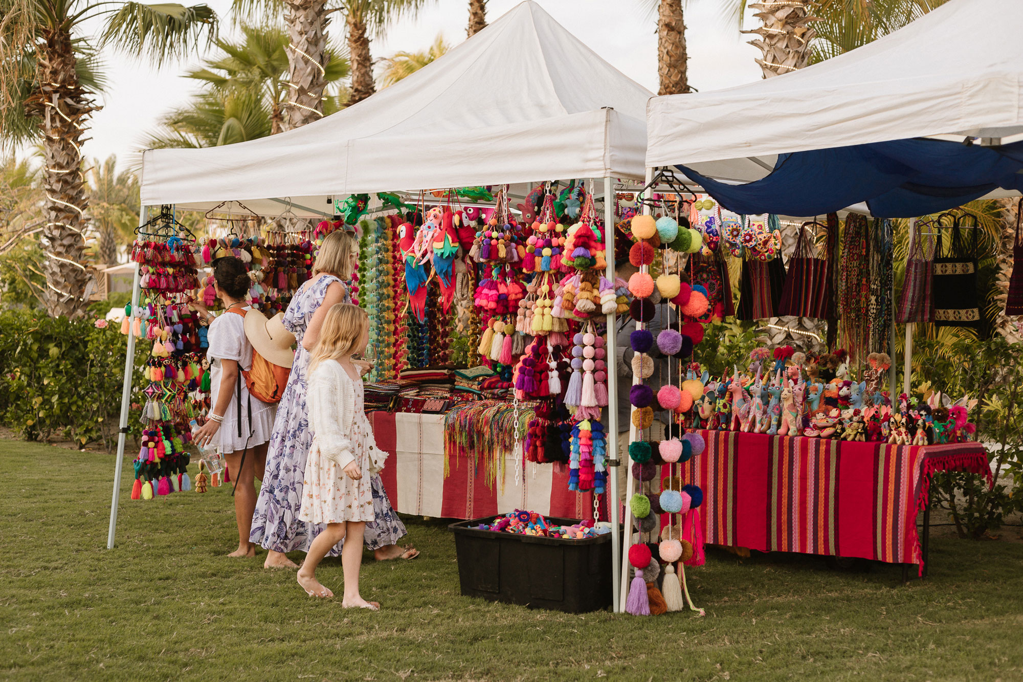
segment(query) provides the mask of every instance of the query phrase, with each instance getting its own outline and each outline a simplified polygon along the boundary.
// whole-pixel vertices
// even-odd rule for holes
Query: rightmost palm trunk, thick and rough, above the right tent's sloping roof
[[[810,26],[816,18],[810,15],[805,0],[786,0],[750,5],[763,26],[743,33],[760,36],[750,45],[760,48],[763,57],[757,59],[764,78],[781,76],[802,69],[810,61],[810,41],[816,35]]]

